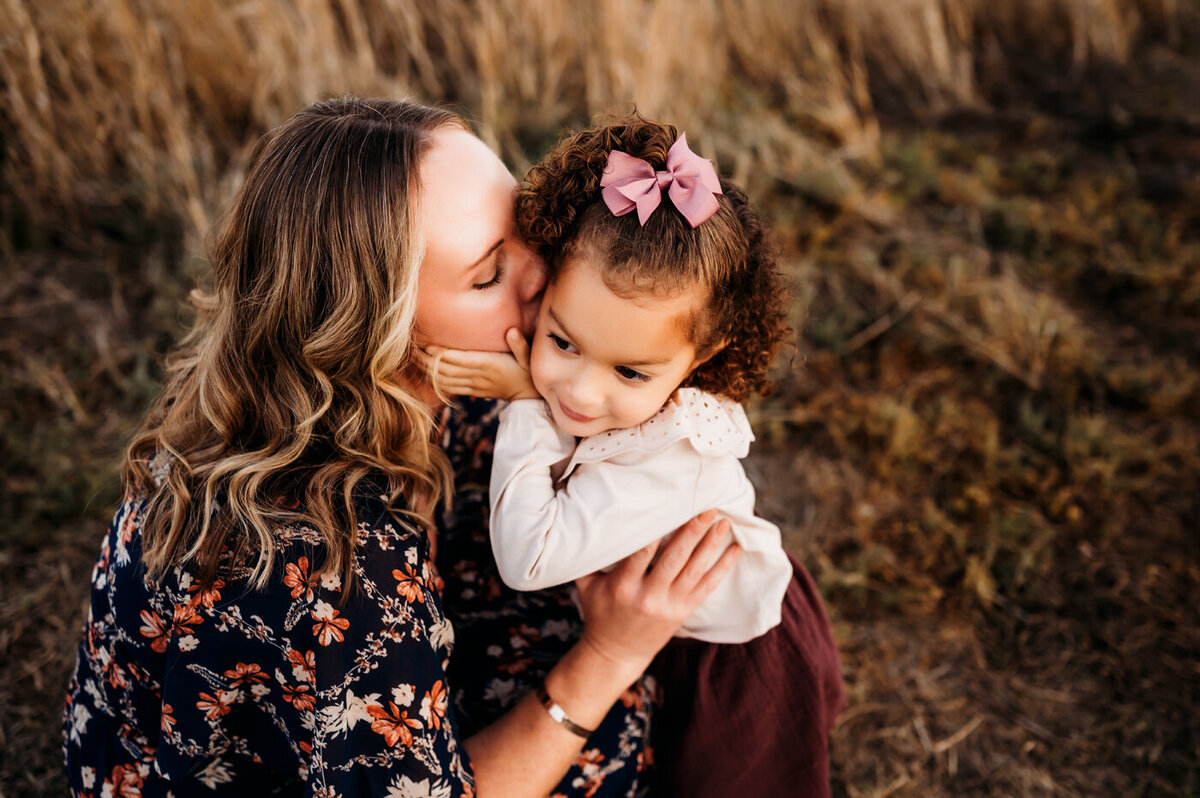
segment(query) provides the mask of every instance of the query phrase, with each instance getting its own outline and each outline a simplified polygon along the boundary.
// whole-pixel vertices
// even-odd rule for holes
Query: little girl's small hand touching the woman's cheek
[[[540,398],[529,377],[529,344],[516,328],[504,336],[512,354],[428,347],[438,384],[455,396]]]

